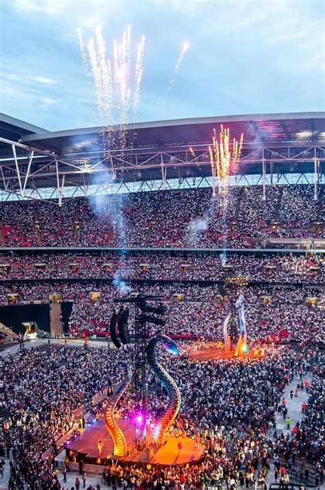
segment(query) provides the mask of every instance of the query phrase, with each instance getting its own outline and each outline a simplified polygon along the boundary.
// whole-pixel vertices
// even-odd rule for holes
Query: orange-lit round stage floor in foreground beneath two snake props
[[[132,463],[151,463],[162,466],[169,465],[184,465],[186,463],[195,463],[203,456],[204,445],[199,444],[199,448],[195,449],[195,441],[189,437],[174,437],[167,436],[166,443],[157,451],[154,450],[154,455],[149,458],[149,447],[145,447],[143,451],[134,450],[134,425],[129,419],[119,419],[117,421],[119,427],[123,430],[125,441],[127,443],[128,454],[123,458],[124,461]],[[98,441],[104,443],[99,461]],[[178,443],[182,443],[182,449],[178,449]],[[151,443],[150,428],[147,431],[147,446]],[[89,463],[106,465],[106,459],[115,459],[112,456],[113,442],[108,430],[106,429],[104,420],[98,420],[93,425],[88,427],[81,436],[71,441],[67,446],[69,458],[76,453],[77,461],[82,459]]]

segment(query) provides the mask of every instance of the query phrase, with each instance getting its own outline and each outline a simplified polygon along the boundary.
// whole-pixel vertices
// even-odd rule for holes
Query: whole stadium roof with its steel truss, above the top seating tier
[[[107,149],[99,127],[51,132],[0,114],[0,189],[86,186],[103,170],[124,182],[208,177],[208,146],[221,124],[231,138],[244,135],[241,175],[261,174],[263,162],[278,174],[313,172],[316,158],[322,172],[324,112],[140,122],[126,127],[123,151]],[[111,131],[119,142],[119,127]]]

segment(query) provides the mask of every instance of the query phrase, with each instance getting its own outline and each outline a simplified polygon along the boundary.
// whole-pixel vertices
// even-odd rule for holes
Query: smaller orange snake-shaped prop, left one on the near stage
[[[112,394],[112,397],[108,401],[108,405],[106,405],[105,412],[104,412],[104,419],[105,419],[105,425],[106,429],[110,433],[110,436],[112,437],[113,443],[114,443],[114,452],[113,454],[115,456],[125,456],[126,454],[126,442],[125,442],[125,437],[123,432],[121,431],[120,427],[117,425],[115,421],[115,408],[117,406],[117,403],[119,402],[119,399],[125,392],[125,390],[128,388],[130,381],[131,381],[131,370],[128,364],[126,362],[118,362],[114,366],[114,374],[117,374],[117,370],[119,368],[123,368],[125,372],[125,377],[123,378],[123,381],[119,388],[115,391],[115,393]]]

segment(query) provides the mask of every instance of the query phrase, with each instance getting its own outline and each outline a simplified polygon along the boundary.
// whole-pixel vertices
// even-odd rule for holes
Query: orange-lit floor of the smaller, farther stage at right
[[[197,361],[208,361],[210,359],[255,359],[256,361],[264,359],[267,355],[267,348],[259,346],[258,348],[250,348],[239,356],[234,355],[234,351],[226,353],[222,342],[209,344],[206,348],[192,350],[188,355],[188,359],[196,359]]]

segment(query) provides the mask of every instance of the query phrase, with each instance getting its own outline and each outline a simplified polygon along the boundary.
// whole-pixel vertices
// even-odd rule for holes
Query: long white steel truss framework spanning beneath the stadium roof
[[[49,189],[47,199],[56,197],[61,205],[67,188],[75,188],[75,194],[87,197],[105,192],[112,182],[120,183],[128,190],[128,183],[141,181],[141,190],[142,185],[148,186],[150,181],[160,180],[160,188],[166,189],[169,188],[169,179],[181,182],[210,176],[206,144],[193,145],[192,152],[188,146],[173,146],[160,151],[157,148],[131,148],[123,154],[99,150],[57,155],[4,138],[0,138],[0,143],[6,148],[2,157],[0,154],[0,190],[5,192],[6,200],[11,200],[13,195],[16,199],[40,199],[38,190]],[[322,181],[324,162],[325,143],[321,142],[247,143],[243,146],[236,179],[238,185],[245,180],[245,185],[250,185],[248,176],[259,175],[258,183],[263,186],[263,199],[266,199],[267,183],[276,183],[279,177],[289,173],[300,175],[301,181],[309,182],[306,175],[313,174],[314,199],[317,199],[317,185]],[[96,191],[92,182],[98,179]],[[119,186],[117,192],[121,192]]]

